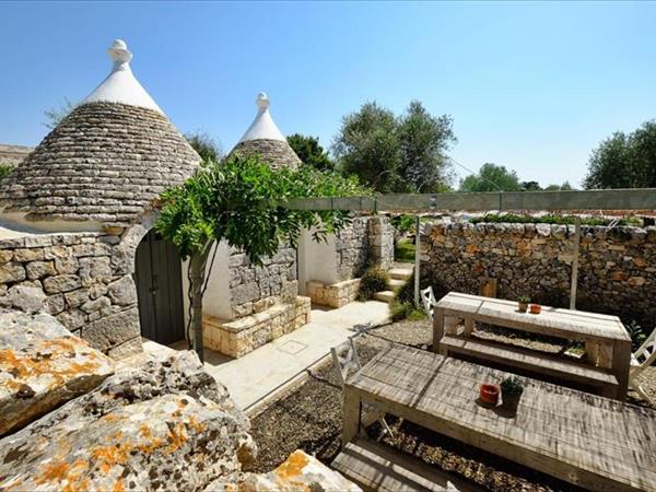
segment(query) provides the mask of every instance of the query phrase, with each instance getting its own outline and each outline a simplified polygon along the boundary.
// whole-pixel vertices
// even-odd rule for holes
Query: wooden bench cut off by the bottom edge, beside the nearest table
[[[391,447],[358,438],[344,446],[331,468],[364,491],[477,492],[480,489]]]

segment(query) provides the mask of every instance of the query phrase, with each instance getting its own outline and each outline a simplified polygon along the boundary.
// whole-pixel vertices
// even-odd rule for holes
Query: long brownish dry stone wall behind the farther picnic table
[[[436,296],[478,293],[488,277],[497,297],[569,306],[573,225],[429,224],[421,242],[422,274]],[[577,308],[653,325],[656,227],[583,226],[578,261]]]

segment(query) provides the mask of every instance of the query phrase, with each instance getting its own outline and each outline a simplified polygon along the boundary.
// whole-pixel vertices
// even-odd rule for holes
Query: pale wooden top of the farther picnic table
[[[631,341],[629,332],[617,316],[585,311],[572,311],[542,306],[539,315],[520,313],[515,301],[449,292],[442,297],[436,308],[446,315],[472,316],[475,319],[535,331],[570,340]]]

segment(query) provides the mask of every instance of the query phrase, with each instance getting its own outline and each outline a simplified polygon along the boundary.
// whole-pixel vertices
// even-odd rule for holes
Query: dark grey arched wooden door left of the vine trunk
[[[154,231],[137,248],[134,282],[141,335],[171,344],[185,338],[181,263],[175,246]]]

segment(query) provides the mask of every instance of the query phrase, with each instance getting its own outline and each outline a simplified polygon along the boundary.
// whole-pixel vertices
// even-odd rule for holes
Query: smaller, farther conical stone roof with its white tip
[[[265,162],[274,168],[297,167],[301,160],[278,129],[273,118],[271,118],[270,102],[267,94],[260,92],[256,105],[258,110],[255,119],[231,153],[259,154]]]

